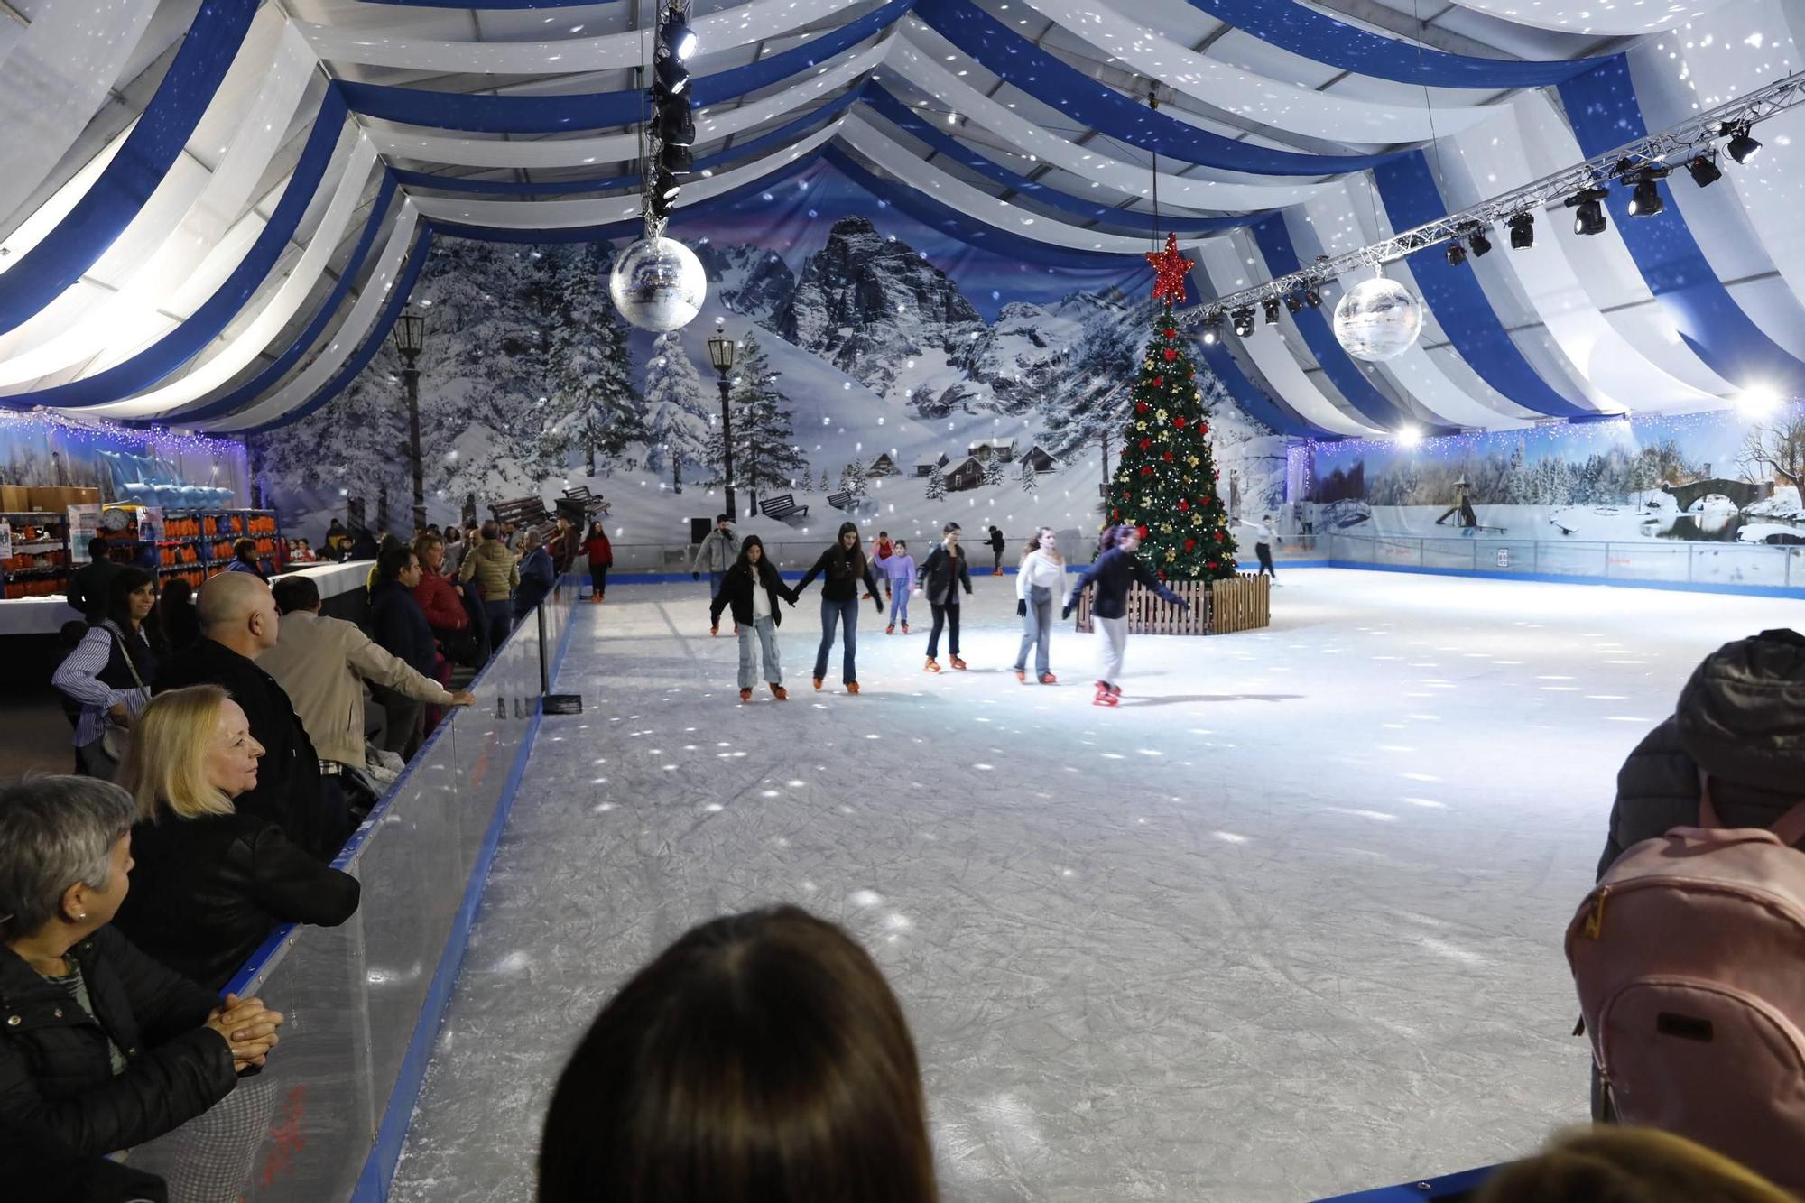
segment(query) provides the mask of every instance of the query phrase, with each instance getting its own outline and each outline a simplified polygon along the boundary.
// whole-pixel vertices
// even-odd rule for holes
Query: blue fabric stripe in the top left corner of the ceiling
[[[125,146],[43,242],[0,275],[0,334],[76,284],[157,190],[251,27],[255,4],[206,0]]]

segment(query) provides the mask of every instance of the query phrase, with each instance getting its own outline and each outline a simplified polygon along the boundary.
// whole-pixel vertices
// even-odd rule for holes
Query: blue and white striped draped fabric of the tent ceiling
[[[635,228],[653,0],[11,7],[4,405],[282,424],[368,361],[433,237]],[[690,20],[708,172],[679,237],[682,206],[825,159],[1049,269],[1130,276],[1173,229],[1211,294],[1805,65],[1783,0],[695,0]],[[1634,229],[1617,206],[1576,237],[1554,210],[1529,249],[1419,253],[1395,275],[1430,322],[1393,363],[1356,368],[1327,309],[1209,361],[1289,434],[1726,405],[1805,361],[1785,186],[1805,116],[1773,130],[1758,166],[1670,179]]]

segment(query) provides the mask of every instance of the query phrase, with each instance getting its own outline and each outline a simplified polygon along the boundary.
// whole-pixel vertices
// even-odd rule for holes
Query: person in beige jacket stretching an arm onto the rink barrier
[[[321,616],[319,587],[310,578],[282,576],[274,594],[282,625],[276,645],[256,657],[256,667],[287,690],[319,757],[327,789],[345,789],[343,766],[365,766],[365,681],[435,706],[477,701],[473,694],[446,690],[421,676],[370,639],[357,623]]]

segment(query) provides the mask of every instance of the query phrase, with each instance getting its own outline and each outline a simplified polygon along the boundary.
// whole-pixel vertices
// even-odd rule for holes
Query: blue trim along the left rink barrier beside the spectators
[[[569,634],[574,625],[576,614],[572,612],[570,621],[565,625],[567,639],[558,648],[558,665],[549,676],[563,670],[563,652],[569,647]],[[421,1008],[419,1021],[413,1024],[413,1035],[408,1039],[408,1051],[401,1058],[401,1071],[395,1075],[395,1086],[388,1093],[388,1105],[383,1107],[375,1142],[370,1145],[363,1174],[357,1176],[357,1185],[352,1189],[352,1203],[383,1203],[388,1199],[388,1185],[395,1176],[395,1165],[401,1161],[401,1145],[406,1142],[408,1127],[413,1122],[413,1104],[419,1100],[421,1082],[426,1080],[426,1066],[431,1060],[433,1044],[439,1040],[439,1024],[444,1021],[451,992],[457,988],[458,970],[464,966],[469,928],[477,919],[477,907],[482,903],[484,889],[489,885],[489,867],[495,863],[495,853],[502,844],[507,816],[514,809],[514,795],[520,791],[520,780],[525,777],[527,764],[532,759],[532,742],[538,739],[543,717],[545,712],[534,708],[532,717],[527,721],[525,737],[520,741],[520,750],[514,753],[514,764],[507,769],[507,784],[502,786],[502,797],[495,806],[495,815],[489,818],[482,847],[477,851],[477,863],[471,869],[469,881],[464,885],[464,900],[458,903],[457,918],[451,921],[446,947],[439,954],[439,968],[433,970],[433,981],[426,988],[426,1002]],[[439,735],[439,732],[433,732],[433,735]],[[421,751],[424,753],[424,748]],[[424,755],[417,755],[413,762],[424,762]],[[395,786],[401,786],[401,779],[397,779]],[[392,789],[390,797],[395,797],[395,793]]]

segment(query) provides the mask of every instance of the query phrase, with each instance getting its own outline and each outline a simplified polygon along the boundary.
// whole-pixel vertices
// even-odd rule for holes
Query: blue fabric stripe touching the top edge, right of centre
[[[1397,79],[1399,83],[1440,89],[1534,89],[1572,79],[1605,61],[1601,58],[1574,58],[1525,63],[1431,51],[1399,38],[1368,33],[1359,25],[1305,7],[1298,0],[1191,0],[1191,7],[1292,54],[1359,76]]]

